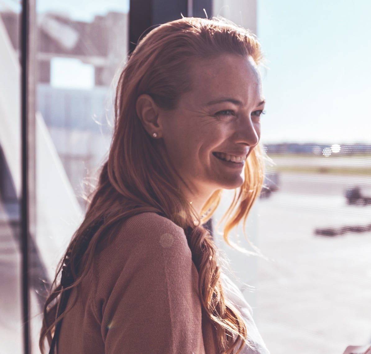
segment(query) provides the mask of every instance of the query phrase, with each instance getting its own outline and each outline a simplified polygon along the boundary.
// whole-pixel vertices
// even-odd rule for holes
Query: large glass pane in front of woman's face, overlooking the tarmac
[[[369,1],[214,0],[267,59],[266,188],[251,278],[271,353],[342,354],[371,339]],[[259,215],[259,216],[258,216]],[[236,252],[238,253],[238,252]],[[256,279],[256,281],[254,281]],[[362,352],[363,353],[363,352]]]

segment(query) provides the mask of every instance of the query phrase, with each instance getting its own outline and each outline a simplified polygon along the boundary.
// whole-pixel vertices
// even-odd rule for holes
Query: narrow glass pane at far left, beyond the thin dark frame
[[[0,353],[23,352],[19,7],[0,4]]]

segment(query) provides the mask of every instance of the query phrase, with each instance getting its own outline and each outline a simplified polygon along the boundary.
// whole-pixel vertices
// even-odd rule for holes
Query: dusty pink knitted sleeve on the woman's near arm
[[[98,269],[106,354],[204,353],[198,274],[183,229],[153,213],[134,216]]]

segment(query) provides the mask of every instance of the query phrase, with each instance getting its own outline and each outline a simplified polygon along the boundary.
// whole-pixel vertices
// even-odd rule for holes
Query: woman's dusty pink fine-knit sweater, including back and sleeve
[[[58,354],[217,353],[183,229],[142,213],[107,241],[71,292]]]

